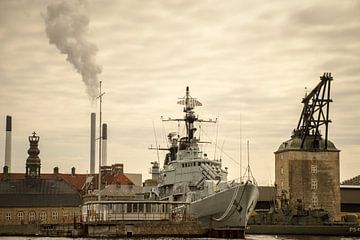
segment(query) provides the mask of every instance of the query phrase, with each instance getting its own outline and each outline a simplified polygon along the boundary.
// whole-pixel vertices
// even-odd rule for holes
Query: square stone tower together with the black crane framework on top
[[[291,139],[275,152],[278,196],[286,195],[293,209],[324,209],[333,220],[340,218],[339,153],[328,140],[330,73],[302,100],[300,120]],[[321,130],[325,133],[322,134]]]

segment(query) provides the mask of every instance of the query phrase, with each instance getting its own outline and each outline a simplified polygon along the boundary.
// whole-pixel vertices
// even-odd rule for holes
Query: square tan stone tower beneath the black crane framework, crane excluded
[[[327,210],[332,219],[340,218],[339,150],[322,139],[313,148],[311,139],[301,148],[301,139],[293,136],[275,152],[275,183],[277,194],[289,199],[293,209]]]

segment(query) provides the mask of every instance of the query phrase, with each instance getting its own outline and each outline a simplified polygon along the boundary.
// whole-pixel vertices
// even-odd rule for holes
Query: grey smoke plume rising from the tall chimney
[[[101,67],[96,64],[97,47],[86,40],[89,18],[84,14],[83,5],[78,1],[62,1],[47,6],[43,14],[46,34],[81,74],[90,100],[99,94],[98,74]]]

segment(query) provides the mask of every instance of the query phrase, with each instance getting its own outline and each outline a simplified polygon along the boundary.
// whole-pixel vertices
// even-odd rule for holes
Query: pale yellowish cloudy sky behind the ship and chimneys
[[[13,116],[13,172],[24,172],[27,137],[40,139],[42,171],[89,171],[92,104],[81,75],[49,43],[44,19],[54,1],[0,1],[0,157],[5,116]],[[149,177],[158,142],[181,117],[176,105],[186,86],[219,118],[218,144],[229,177],[239,175],[240,115],[243,149],[250,140],[253,173],[274,181],[274,154],[289,139],[305,87],[332,72],[329,137],[341,150],[341,180],[360,174],[360,1],[89,1],[87,43],[106,92],[108,162]],[[92,45],[91,45],[92,46]],[[215,125],[203,125],[215,140]],[[214,144],[204,146],[210,156]],[[217,152],[219,156],[219,152]],[[162,161],[161,156],[161,161]],[[243,151],[243,159],[245,159]],[[3,160],[1,160],[3,162]],[[3,164],[1,164],[3,166]]]

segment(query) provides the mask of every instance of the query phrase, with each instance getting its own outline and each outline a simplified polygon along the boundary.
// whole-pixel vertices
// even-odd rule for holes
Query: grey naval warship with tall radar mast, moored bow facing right
[[[190,203],[188,214],[204,229],[236,229],[243,233],[259,196],[255,179],[249,175],[245,180],[228,181],[221,159],[208,158],[201,150],[206,142],[195,135],[195,124],[216,120],[202,120],[195,115],[194,108],[202,104],[190,96],[189,87],[177,103],[184,105],[184,117],[162,120],[183,122],[186,133],[181,137],[171,132],[168,147],[152,148],[167,153],[162,168],[158,161],[152,162],[151,173],[157,184],[149,196]]]

